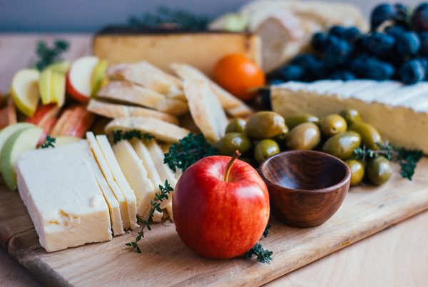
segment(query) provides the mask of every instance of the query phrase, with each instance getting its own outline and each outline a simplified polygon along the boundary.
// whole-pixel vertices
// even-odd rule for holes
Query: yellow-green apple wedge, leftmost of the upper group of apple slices
[[[26,116],[33,116],[39,104],[39,78],[39,71],[24,69],[16,73],[12,80],[12,99],[16,108]]]

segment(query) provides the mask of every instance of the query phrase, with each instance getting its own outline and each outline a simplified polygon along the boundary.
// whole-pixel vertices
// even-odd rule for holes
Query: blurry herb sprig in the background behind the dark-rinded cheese
[[[205,31],[209,19],[203,16],[190,14],[180,9],[169,9],[167,6],[159,6],[156,14],[145,13],[138,19],[131,16],[128,19],[129,26],[156,28],[161,24],[174,24],[179,29],[190,29],[194,31]]]

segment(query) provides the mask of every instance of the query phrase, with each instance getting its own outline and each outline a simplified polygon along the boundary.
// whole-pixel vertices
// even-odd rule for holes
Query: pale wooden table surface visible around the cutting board
[[[0,34],[0,90],[35,59],[38,40],[66,39],[65,59],[91,54],[91,35]],[[428,211],[277,278],[267,286],[427,286]],[[0,286],[41,286],[0,247]]]

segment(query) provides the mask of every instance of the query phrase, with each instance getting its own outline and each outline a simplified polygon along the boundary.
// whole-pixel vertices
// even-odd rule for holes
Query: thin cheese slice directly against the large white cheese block
[[[113,235],[121,235],[123,234],[123,225],[119,202],[116,196],[114,196],[113,191],[111,191],[110,186],[108,186],[106,178],[104,178],[103,173],[96,162],[95,156],[93,156],[93,152],[91,151],[91,146],[89,146],[88,141],[82,139],[80,142],[83,146],[83,150],[85,151],[86,158],[88,158],[89,164],[91,165],[93,175],[95,176],[96,181],[98,181],[101,191],[103,191],[104,198],[106,198],[108,209],[110,210],[111,229],[113,230]]]

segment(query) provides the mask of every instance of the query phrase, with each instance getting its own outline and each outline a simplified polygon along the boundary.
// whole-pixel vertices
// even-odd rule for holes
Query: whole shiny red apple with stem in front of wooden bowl
[[[208,258],[242,255],[253,248],[267,226],[267,187],[258,172],[244,161],[235,161],[237,157],[203,158],[175,186],[178,236],[190,250]]]

